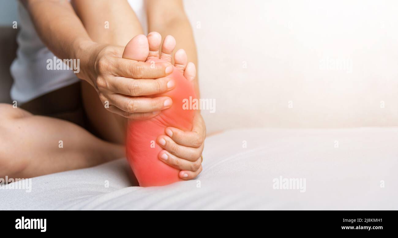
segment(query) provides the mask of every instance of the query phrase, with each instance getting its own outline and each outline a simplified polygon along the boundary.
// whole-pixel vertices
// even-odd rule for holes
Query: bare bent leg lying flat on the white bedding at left
[[[73,123],[4,103],[0,131],[0,177],[30,178],[86,168],[125,154],[122,146],[100,140]]]

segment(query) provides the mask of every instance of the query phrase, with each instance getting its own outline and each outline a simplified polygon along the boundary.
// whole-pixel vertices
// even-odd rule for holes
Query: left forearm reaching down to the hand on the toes
[[[29,12],[36,32],[43,43],[59,59],[79,59],[84,67],[89,61],[88,51],[94,48],[82,22],[68,1],[21,0]],[[79,78],[88,75],[81,70]]]

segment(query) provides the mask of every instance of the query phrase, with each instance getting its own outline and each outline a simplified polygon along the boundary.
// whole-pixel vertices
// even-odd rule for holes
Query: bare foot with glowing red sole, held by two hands
[[[157,32],[149,33],[148,37],[137,35],[126,45],[123,58],[146,62],[169,62],[171,65],[176,40],[170,35],[164,39],[159,59],[161,41],[162,37]],[[167,78],[174,80],[175,88],[164,94],[148,96],[168,96],[172,98],[172,106],[150,119],[129,120],[127,127],[127,159],[142,187],[162,186],[182,181],[178,176],[180,170],[159,159],[163,149],[156,143],[158,136],[165,135],[166,127],[176,127],[183,131],[192,129],[195,111],[183,109],[183,99],[196,98],[193,84],[195,65],[191,62],[187,64],[187,55],[183,50],[174,54],[174,61],[174,71]]]

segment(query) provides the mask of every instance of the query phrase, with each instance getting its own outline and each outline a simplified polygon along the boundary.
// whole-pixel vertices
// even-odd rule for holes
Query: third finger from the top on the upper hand
[[[169,97],[130,97],[122,94],[111,94],[108,97],[111,105],[115,105],[126,113],[161,111],[173,104]]]

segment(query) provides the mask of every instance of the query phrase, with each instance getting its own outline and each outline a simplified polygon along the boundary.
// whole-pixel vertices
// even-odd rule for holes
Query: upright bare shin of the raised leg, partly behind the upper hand
[[[143,33],[127,1],[72,1],[72,4],[93,41],[125,46]],[[109,23],[109,29],[104,27],[105,21]],[[96,90],[86,82],[82,82],[82,98],[90,130],[109,142],[124,143],[127,119],[107,111]]]

